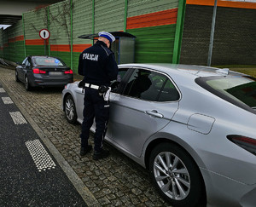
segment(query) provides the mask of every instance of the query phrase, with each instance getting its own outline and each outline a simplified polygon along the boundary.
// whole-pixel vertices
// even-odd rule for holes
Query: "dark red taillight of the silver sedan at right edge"
[[[256,140],[242,135],[227,135],[227,138],[239,147],[256,155]]]

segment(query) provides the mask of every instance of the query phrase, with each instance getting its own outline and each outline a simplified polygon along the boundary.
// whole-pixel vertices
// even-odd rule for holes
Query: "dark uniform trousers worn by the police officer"
[[[96,118],[96,133],[94,136],[94,150],[102,150],[102,141],[107,132],[109,118],[109,103],[104,101],[97,89],[84,89],[84,121],[82,124],[81,147],[87,147],[90,137],[90,127]]]

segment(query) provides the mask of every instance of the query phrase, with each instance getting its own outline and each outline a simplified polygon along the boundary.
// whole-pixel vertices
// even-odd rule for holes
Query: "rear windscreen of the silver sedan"
[[[215,95],[236,106],[250,106],[256,111],[256,81],[252,77],[200,78],[199,83]]]

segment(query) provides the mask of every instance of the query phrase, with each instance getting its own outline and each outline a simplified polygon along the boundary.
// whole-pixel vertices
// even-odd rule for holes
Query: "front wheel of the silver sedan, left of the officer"
[[[76,106],[74,104],[72,95],[67,95],[64,101],[64,107],[65,107],[64,110],[65,110],[67,121],[70,124],[76,124],[78,115],[76,112]]]

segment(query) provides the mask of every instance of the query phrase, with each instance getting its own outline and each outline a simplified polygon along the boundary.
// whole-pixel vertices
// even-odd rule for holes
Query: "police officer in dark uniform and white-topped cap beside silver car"
[[[97,42],[79,56],[79,74],[84,76],[84,120],[81,132],[80,155],[90,152],[92,147],[88,145],[90,127],[96,118],[96,133],[94,137],[95,160],[106,158],[107,150],[102,149],[102,141],[107,131],[109,118],[109,103],[102,94],[108,89],[110,81],[117,78],[118,66],[114,60],[114,54],[110,48],[115,37],[108,32],[99,32]],[[103,91],[99,91],[102,90]]]

